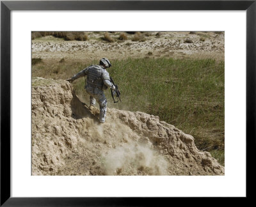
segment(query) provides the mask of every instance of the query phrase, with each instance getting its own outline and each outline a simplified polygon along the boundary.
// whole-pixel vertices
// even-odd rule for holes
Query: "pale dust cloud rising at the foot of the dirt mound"
[[[167,162],[156,151],[142,144],[125,144],[109,151],[104,157],[108,175],[167,174]]]

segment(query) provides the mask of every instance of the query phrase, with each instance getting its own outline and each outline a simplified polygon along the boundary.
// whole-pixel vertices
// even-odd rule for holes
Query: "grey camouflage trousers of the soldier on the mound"
[[[104,122],[107,113],[107,100],[104,94],[104,91],[99,88],[92,88],[90,86],[86,86],[86,92],[90,95],[90,105],[95,105],[96,101],[100,105],[100,122]]]

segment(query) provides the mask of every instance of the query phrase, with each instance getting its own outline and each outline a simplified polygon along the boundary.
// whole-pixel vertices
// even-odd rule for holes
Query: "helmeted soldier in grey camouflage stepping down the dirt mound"
[[[68,82],[73,82],[79,77],[84,77],[87,75],[87,80],[84,88],[86,92],[90,95],[90,107],[92,109],[95,106],[96,101],[100,105],[100,123],[105,122],[107,113],[107,100],[103,89],[110,87],[115,90],[115,86],[112,84],[109,78],[109,73],[106,68],[111,67],[111,64],[107,58],[100,59],[100,65],[91,65],[87,68],[81,70],[81,72],[74,75],[71,79],[67,79]]]

